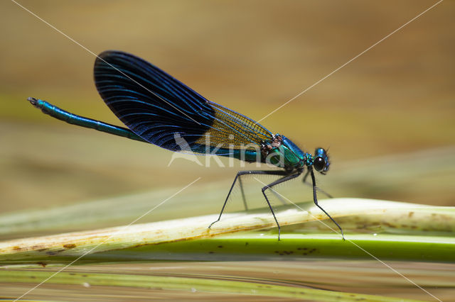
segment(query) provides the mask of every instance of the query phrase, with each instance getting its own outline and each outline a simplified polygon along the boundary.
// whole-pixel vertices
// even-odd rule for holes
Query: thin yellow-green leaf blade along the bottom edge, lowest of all
[[[0,270],[0,281],[38,283],[46,281],[49,284],[76,284],[85,286],[125,286],[156,290],[180,290],[192,293],[237,293],[248,296],[268,296],[276,298],[299,298],[306,301],[415,301],[399,298],[373,296],[359,293],[343,293],[340,291],[326,291],[309,289],[301,286],[280,286],[267,284],[266,281],[232,281],[215,279],[213,277],[188,278],[175,276],[147,276],[132,274],[100,274],[77,272],[40,272],[27,270]]]

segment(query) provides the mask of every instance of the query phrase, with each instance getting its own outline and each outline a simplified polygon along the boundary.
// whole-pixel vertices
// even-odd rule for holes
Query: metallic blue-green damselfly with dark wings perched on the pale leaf
[[[171,151],[215,154],[246,162],[267,162],[282,168],[238,172],[223,203],[220,216],[213,222],[220,220],[232,188],[242,175],[277,175],[280,178],[264,186],[262,194],[277,223],[278,240],[281,228],[266,191],[284,181],[299,177],[306,167],[304,181],[311,176],[314,203],[338,226],[343,235],[340,225],[321,208],[316,196],[318,189],[314,170],[326,174],[330,165],[327,152],[323,148],[316,148],[314,155],[303,152],[284,135],[273,134],[251,118],[208,101],[161,69],[125,52],[106,51],[97,57],[95,84],[107,106],[128,128],[77,116],[40,99],[28,98],[28,101],[41,108],[43,113],[61,121],[149,142]],[[188,150],[183,150],[178,140],[185,140]],[[243,191],[242,196],[245,201]]]

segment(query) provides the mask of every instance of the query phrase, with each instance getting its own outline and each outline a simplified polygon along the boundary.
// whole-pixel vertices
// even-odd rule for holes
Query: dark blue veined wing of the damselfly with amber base
[[[168,150],[180,151],[183,146],[199,153],[214,147],[239,150],[272,136],[250,118],[208,101],[125,52],[107,51],[97,57],[95,84],[107,106],[129,129]]]

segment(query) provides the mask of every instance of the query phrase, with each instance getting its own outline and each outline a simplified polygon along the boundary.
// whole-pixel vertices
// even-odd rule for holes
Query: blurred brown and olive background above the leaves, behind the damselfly
[[[131,52],[259,120],[435,2],[20,3],[95,54]],[[167,150],[43,115],[28,96],[120,125],[95,89],[94,55],[13,1],[0,11],[1,213],[180,189],[197,177],[195,186],[223,183],[224,196],[249,169],[168,167]],[[318,180],[334,196],[455,206],[454,13],[442,2],[262,125],[307,152],[329,147],[331,171]],[[311,200],[299,181],[289,187]]]

